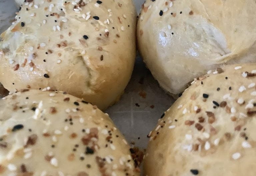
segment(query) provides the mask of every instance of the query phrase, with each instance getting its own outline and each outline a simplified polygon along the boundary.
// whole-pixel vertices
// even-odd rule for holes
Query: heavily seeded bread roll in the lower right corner
[[[145,175],[255,175],[255,82],[255,63],[194,81],[149,133]]]

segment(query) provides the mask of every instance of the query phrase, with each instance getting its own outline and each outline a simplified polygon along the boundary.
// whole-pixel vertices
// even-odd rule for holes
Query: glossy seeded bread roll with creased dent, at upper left
[[[106,109],[130,79],[135,23],[132,0],[25,2],[1,35],[0,82],[50,86]]]

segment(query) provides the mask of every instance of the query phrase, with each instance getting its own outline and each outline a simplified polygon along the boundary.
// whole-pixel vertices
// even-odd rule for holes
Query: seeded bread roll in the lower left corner
[[[139,175],[108,114],[69,94],[23,89],[0,121],[0,175]]]

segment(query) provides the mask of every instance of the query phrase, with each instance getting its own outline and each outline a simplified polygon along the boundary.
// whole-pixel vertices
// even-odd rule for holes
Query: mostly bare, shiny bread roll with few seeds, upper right
[[[160,86],[178,94],[210,69],[255,62],[255,8],[254,0],[147,0],[140,53]]]

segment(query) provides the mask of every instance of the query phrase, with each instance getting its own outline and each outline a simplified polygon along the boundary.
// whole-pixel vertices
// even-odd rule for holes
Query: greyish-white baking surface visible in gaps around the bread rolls
[[[144,0],[134,0],[134,2],[139,12]],[[16,11],[14,0],[0,0],[0,33],[10,26]],[[139,83],[142,78],[144,78],[143,84]],[[146,92],[146,98],[139,95],[141,91]],[[136,103],[139,107],[135,105]],[[129,142],[134,141],[135,146],[144,149],[148,142],[147,134],[172,103],[173,99],[159,87],[138,55],[132,78],[123,96],[105,112],[110,115]],[[153,109],[150,108],[151,105],[154,105]]]

